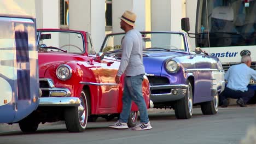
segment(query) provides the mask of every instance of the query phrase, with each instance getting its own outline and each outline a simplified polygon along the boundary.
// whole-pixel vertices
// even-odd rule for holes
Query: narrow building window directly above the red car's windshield
[[[68,13],[69,0],[60,0],[60,26],[68,27],[69,13]]]

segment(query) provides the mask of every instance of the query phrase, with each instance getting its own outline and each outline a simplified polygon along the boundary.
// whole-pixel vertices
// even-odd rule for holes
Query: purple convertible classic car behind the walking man
[[[190,118],[193,106],[204,115],[218,112],[218,95],[224,90],[224,71],[217,57],[200,48],[193,51],[185,32],[141,32],[143,63],[150,82],[154,108],[174,109],[178,119]],[[108,34],[101,52],[121,58],[125,33]]]

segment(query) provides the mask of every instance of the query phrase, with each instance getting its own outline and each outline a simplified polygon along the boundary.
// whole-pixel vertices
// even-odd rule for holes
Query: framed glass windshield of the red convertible
[[[83,53],[83,35],[75,32],[37,32],[39,52]]]

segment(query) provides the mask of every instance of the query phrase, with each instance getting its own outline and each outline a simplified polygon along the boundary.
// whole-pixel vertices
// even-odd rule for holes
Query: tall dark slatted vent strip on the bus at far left
[[[18,100],[31,100],[30,57],[27,32],[15,31]]]

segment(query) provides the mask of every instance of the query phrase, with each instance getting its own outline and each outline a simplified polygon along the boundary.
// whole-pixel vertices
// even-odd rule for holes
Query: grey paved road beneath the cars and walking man
[[[114,130],[112,122],[88,123],[84,133],[68,133],[65,125],[40,125],[34,134],[13,127],[0,127],[0,143],[240,143],[249,127],[256,124],[256,106],[221,108],[217,115],[202,115],[194,109],[190,119],[176,119],[173,110],[150,110],[153,129]],[[3,132],[3,130],[5,130]]]

